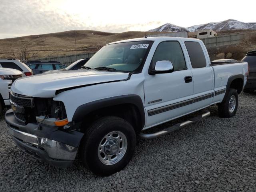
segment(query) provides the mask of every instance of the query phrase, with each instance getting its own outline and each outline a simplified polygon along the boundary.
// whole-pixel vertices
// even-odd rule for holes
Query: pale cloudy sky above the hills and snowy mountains
[[[165,23],[256,22],[255,7],[256,0],[0,0],[0,39],[68,30],[148,31]]]

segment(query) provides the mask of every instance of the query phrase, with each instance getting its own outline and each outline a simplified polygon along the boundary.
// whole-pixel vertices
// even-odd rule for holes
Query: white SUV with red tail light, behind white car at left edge
[[[0,58],[0,67],[19,70],[22,72],[23,77],[30,76],[33,74],[32,70],[21,60],[18,59]]]

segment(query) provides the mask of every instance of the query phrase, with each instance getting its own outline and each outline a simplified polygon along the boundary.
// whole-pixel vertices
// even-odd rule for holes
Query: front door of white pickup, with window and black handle
[[[161,42],[156,48],[150,68],[154,68],[157,61],[169,60],[174,66],[174,72],[146,75],[144,82],[146,128],[193,110],[192,72],[183,52],[179,41]]]

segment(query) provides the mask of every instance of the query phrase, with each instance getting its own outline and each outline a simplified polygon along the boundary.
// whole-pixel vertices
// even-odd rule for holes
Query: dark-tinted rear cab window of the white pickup
[[[206,59],[201,45],[194,41],[185,41],[192,68],[206,67]]]

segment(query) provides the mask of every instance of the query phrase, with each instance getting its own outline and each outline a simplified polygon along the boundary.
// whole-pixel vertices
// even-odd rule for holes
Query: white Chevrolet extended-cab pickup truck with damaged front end
[[[200,120],[217,104],[236,114],[247,62],[211,63],[201,40],[152,37],[110,43],[77,71],[16,80],[6,123],[16,145],[54,166],[82,162],[98,175],[128,164],[136,133],[156,138]],[[156,133],[143,130],[200,111]]]

